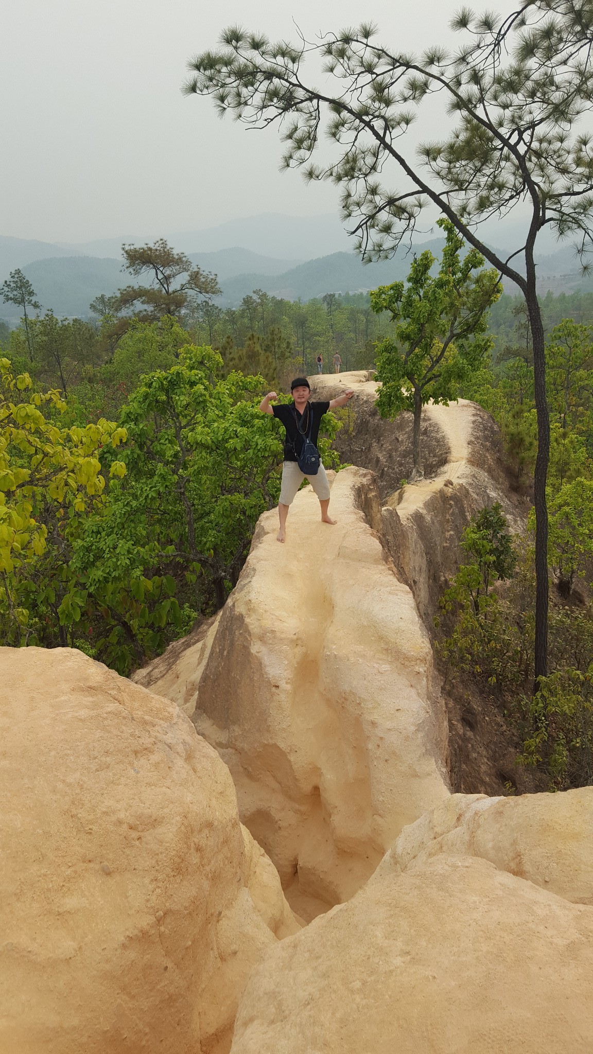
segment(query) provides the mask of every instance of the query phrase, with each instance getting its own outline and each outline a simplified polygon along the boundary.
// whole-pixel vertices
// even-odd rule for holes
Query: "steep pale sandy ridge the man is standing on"
[[[339,472],[330,511],[334,527],[302,490],[284,545],[276,511],[261,518],[194,682],[195,725],[305,918],[351,896],[448,796],[429,641],[374,529],[372,475]]]

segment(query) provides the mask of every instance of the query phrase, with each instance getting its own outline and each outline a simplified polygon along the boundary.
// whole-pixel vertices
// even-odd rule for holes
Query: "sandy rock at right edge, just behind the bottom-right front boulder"
[[[381,867],[479,856],[575,903],[593,904],[593,787],[519,798],[452,795],[406,827]]]

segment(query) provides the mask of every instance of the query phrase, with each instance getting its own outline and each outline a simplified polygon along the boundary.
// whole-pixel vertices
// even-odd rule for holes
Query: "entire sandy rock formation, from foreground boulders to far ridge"
[[[376,385],[343,382],[362,449]],[[422,617],[472,512],[520,510],[487,415],[425,416],[431,479],[381,508],[331,474],[338,525],[307,487],[284,545],[266,513],[219,616],[135,684],[0,649],[2,1050],[593,1050],[593,788],[448,789]]]

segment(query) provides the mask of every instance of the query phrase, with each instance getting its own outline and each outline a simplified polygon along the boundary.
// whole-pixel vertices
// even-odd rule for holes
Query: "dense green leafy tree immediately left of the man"
[[[257,411],[263,379],[222,374],[218,354],[190,346],[131,395],[127,475],[77,550],[94,592],[166,567],[199,611],[236,582],[255,522],[278,499],[282,443]]]

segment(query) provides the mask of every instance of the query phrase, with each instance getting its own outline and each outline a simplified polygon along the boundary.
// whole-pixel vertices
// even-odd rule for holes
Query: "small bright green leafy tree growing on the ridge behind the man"
[[[378,350],[382,385],[377,405],[384,417],[401,410],[414,413],[413,479],[422,475],[422,407],[429,399],[448,405],[463,379],[479,368],[491,346],[486,312],[502,292],[498,272],[480,270],[484,259],[476,249],[461,259],[463,238],[449,220],[438,222],[446,234],[438,273],[432,274],[435,257],[424,252],[414,260],[405,285],[397,281],[370,294],[372,310],[388,311],[396,324],[396,340],[387,338]]]

